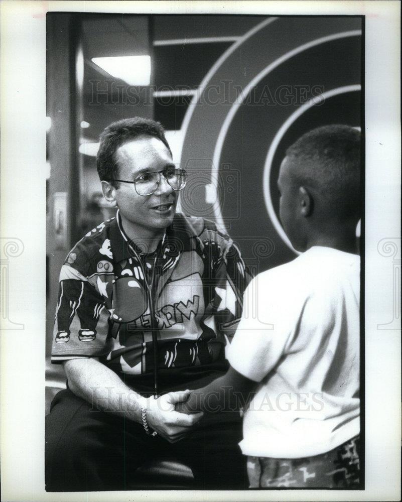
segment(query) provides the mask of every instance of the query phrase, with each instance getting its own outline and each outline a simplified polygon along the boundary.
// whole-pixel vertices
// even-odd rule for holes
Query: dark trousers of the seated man
[[[197,489],[247,486],[241,455],[241,420],[202,419],[189,436],[171,444],[148,436],[141,424],[111,412],[96,411],[70,390],[59,392],[46,417],[47,491],[130,489],[135,470],[146,460],[172,454],[189,465]],[[152,488],[152,486],[150,486]]]

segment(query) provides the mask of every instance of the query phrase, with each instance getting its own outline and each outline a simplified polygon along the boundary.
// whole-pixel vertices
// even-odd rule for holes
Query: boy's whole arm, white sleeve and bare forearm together
[[[189,400],[180,404],[180,410],[216,413],[245,407],[257,383],[284,356],[293,333],[288,297],[282,275],[273,280],[272,274],[267,276],[265,273],[250,282],[244,293],[242,318],[228,347],[228,372],[206,387],[193,391]],[[257,315],[250,315],[253,304]]]

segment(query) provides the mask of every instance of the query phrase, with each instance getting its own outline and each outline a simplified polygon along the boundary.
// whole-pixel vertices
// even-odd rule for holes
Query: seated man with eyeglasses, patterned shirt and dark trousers
[[[176,213],[186,172],[158,122],[112,123],[97,170],[117,213],[60,273],[52,362],[68,388],[47,417],[46,489],[128,489],[137,467],[167,452],[199,489],[244,488],[239,416],[175,411],[228,367],[249,281],[239,251],[213,223]]]

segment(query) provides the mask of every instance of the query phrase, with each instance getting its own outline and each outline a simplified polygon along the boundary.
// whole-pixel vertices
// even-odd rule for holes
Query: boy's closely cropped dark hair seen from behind
[[[360,132],[332,124],[313,129],[288,148],[295,183],[314,190],[328,210],[354,217],[360,207]]]

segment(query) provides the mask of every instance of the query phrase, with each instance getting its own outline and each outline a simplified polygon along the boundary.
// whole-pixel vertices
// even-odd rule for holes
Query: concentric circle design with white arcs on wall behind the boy
[[[323,124],[359,127],[361,110],[361,20],[270,19],[232,46],[203,82],[184,121],[181,159],[193,169],[183,210],[215,219],[258,271],[296,256],[278,218],[276,181],[286,149]],[[222,81],[228,95],[207,105],[203,93]],[[267,256],[256,256],[261,239],[271,242]]]

